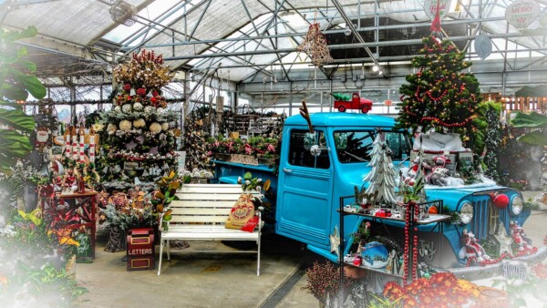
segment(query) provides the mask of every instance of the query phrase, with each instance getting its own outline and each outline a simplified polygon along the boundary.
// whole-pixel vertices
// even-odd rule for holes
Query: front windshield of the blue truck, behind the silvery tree
[[[387,144],[392,150],[391,159],[407,159],[410,155],[408,136],[402,132],[385,132]],[[334,133],[336,156],[341,163],[368,162],[372,143],[376,139],[374,130],[344,130]]]

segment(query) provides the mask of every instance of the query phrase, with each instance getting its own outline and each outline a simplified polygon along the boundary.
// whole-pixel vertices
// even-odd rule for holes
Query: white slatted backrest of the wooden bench
[[[224,224],[242,193],[240,184],[183,184],[177,190],[180,200],[170,203],[170,223]]]

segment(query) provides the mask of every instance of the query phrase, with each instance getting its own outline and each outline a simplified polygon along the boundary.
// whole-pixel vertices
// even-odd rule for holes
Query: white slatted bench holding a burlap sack
[[[257,210],[259,222],[253,232],[226,229],[224,223],[230,216],[232,206],[243,193],[240,184],[183,184],[177,191],[180,200],[170,203],[172,218],[167,231],[160,228],[160,264],[161,273],[163,247],[166,246],[167,259],[170,260],[170,240],[181,241],[256,241],[256,275],[260,275],[260,238],[262,213]],[[247,192],[248,193],[248,192]],[[253,195],[259,193],[253,191]],[[160,217],[160,226],[163,214]],[[241,251],[238,251],[241,252]]]

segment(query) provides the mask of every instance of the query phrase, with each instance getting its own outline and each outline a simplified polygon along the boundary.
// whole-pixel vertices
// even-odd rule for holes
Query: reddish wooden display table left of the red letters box
[[[49,206],[57,210],[59,206],[68,205],[77,215],[77,221],[67,223],[66,228],[77,231],[80,227],[85,227],[91,231],[91,249],[92,258],[95,259],[95,244],[97,233],[97,195],[95,190],[87,190],[83,193],[56,193],[51,199]],[[42,200],[42,211],[46,210],[46,200]]]

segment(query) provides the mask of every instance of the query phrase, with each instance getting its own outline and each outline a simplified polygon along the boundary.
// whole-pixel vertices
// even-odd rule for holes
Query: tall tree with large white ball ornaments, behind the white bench
[[[155,182],[176,164],[177,115],[167,110],[161,87],[172,77],[162,56],[142,50],[113,71],[119,83],[114,108],[101,114],[106,126],[99,170],[108,190],[139,187],[154,190]]]

